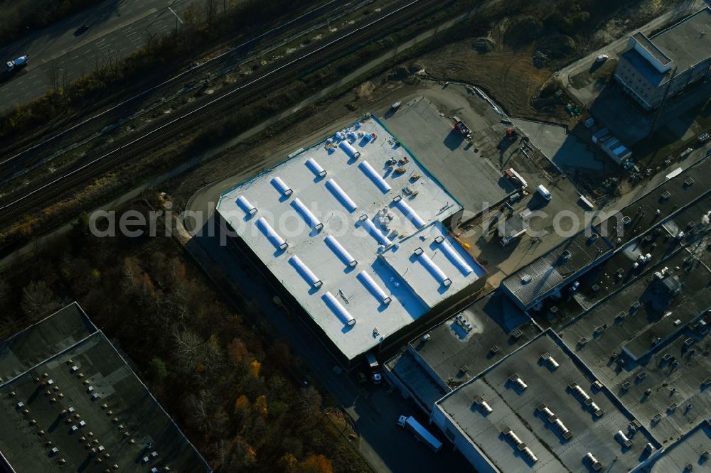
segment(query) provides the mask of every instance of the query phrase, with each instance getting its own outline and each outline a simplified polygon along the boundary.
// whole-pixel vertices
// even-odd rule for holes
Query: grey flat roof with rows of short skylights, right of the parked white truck
[[[542,363],[541,356],[548,354],[558,364],[551,370]],[[526,385],[517,390],[511,378]],[[606,472],[628,472],[645,458],[646,443],[658,443],[646,429],[636,434],[628,433],[633,418],[616,403],[606,388],[592,388],[592,376],[582,371],[562,346],[560,339],[550,330],[525,345],[509,357],[483,372],[469,383],[437,402],[441,409],[469,441],[483,452],[502,472],[532,471],[584,471],[584,456],[590,452],[602,463]],[[582,391],[602,410],[602,417],[592,413],[575,394],[572,385]],[[483,413],[474,400],[481,396],[491,413]],[[545,406],[544,406],[545,405]],[[552,425],[548,408],[572,437],[565,440]],[[538,457],[531,464],[522,457],[515,445],[502,435],[506,429],[516,436]],[[622,430],[631,437],[632,445],[624,448],[616,440]]]

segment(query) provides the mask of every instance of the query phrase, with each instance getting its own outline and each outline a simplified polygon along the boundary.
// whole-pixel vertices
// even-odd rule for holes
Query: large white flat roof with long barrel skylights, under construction
[[[350,146],[308,148],[226,192],[218,211],[353,359],[486,271],[439,224],[461,206],[407,149],[373,118],[344,132]]]

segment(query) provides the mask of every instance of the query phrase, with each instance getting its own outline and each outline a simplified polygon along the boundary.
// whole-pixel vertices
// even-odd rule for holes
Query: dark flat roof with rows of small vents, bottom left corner
[[[66,332],[81,332],[78,326],[87,320],[73,304],[11,341],[19,347],[23,340],[59,340]],[[73,324],[76,330],[68,331]],[[16,357],[0,359],[8,363]],[[113,471],[114,464],[119,472],[211,471],[95,329],[0,384],[0,453],[18,472]]]

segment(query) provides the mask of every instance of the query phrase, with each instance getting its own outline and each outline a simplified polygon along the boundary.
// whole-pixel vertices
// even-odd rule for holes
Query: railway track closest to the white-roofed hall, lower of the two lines
[[[417,18],[438,4],[441,4],[438,0],[397,2],[363,26],[343,31],[341,35],[326,44],[317,44],[306,48],[294,59],[276,62],[247,82],[223,92],[218,97],[210,98],[191,111],[175,118],[166,119],[137,138],[128,138],[123,143],[117,143],[115,148],[106,153],[98,156],[85,156],[82,161],[58,173],[59,175],[39,181],[31,189],[10,195],[0,205],[0,218],[8,222],[28,210],[42,207],[49,200],[62,195],[63,192],[85,185],[92,178],[107,172],[116,165],[161,146],[169,141],[171,136],[202,126],[208,123],[211,117],[234,109],[245,99],[267,92],[282,83],[285,77],[299,77],[304,72],[314,70],[324,62],[348,53],[359,44],[368,43],[378,35],[391,31],[395,26]]]

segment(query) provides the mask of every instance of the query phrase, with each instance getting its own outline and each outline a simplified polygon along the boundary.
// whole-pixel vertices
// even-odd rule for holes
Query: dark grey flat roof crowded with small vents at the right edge
[[[711,375],[703,329],[711,323],[711,272],[703,265],[689,266],[687,258],[682,249],[659,261],[646,277],[561,330],[565,344],[661,442],[678,440],[711,410],[702,386]],[[680,281],[680,293],[668,293],[653,276],[664,267]],[[582,337],[587,343],[579,344]],[[671,358],[678,364],[673,366]]]

